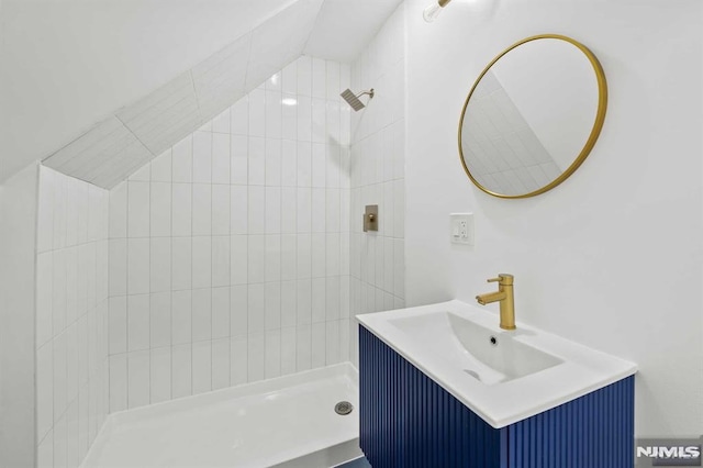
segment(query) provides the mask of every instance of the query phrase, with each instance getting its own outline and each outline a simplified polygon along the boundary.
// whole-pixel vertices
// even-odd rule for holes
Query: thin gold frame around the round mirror
[[[486,75],[488,73],[488,70],[490,70],[491,67],[498,60],[500,60],[505,54],[507,54],[512,49],[514,49],[514,48],[516,48],[516,47],[518,47],[518,46],[521,46],[523,44],[526,44],[526,43],[528,43],[531,41],[537,41],[537,40],[543,40],[543,38],[555,38],[555,40],[566,41],[569,44],[576,46],[579,51],[581,51],[588,57],[589,62],[591,63],[591,66],[593,67],[593,71],[595,73],[595,78],[596,78],[596,81],[598,81],[598,111],[595,113],[595,121],[593,122],[593,127],[591,129],[591,134],[589,135],[589,138],[587,140],[585,145],[583,146],[583,149],[581,149],[581,153],[579,153],[579,155],[573,160],[573,163],[571,163],[571,165],[563,172],[561,172],[561,175],[559,177],[557,177],[555,180],[553,180],[548,185],[544,186],[543,188],[540,188],[538,190],[535,190],[535,191],[532,191],[529,193],[524,193],[524,194],[518,194],[518,196],[507,196],[507,194],[503,194],[503,193],[496,193],[494,191],[491,191],[491,190],[487,189],[481,183],[479,183],[478,180],[476,180],[473,178],[473,176],[471,176],[471,172],[469,171],[469,168],[467,167],[467,164],[466,164],[466,161],[464,159],[464,151],[461,149],[461,126],[462,126],[462,123],[464,123],[464,116],[465,116],[466,110],[467,110],[467,108],[469,105],[469,100],[471,99],[471,96],[473,94],[473,91],[478,87],[479,82],[481,82],[481,79],[483,78],[483,75]],[[461,118],[459,119],[459,138],[458,138],[458,141],[459,141],[459,160],[461,161],[461,166],[464,167],[464,170],[466,171],[466,175],[469,177],[469,179],[471,179],[473,185],[476,185],[479,189],[481,189],[482,191],[484,191],[488,194],[491,194],[493,197],[499,197],[499,198],[505,198],[505,199],[520,199],[520,198],[529,198],[529,197],[538,196],[540,193],[544,193],[546,191],[549,191],[549,190],[554,189],[559,183],[563,182],[585,160],[585,158],[591,153],[591,149],[593,149],[593,146],[595,145],[595,141],[598,140],[599,135],[601,134],[601,129],[603,127],[603,122],[605,121],[605,110],[606,110],[606,108],[607,108],[607,83],[605,81],[605,74],[603,73],[603,67],[601,67],[601,63],[598,60],[595,55],[593,55],[593,53],[591,51],[589,51],[588,47],[585,47],[580,42],[572,40],[571,37],[559,35],[559,34],[539,34],[539,35],[526,37],[526,38],[524,38],[524,40],[522,40],[520,42],[516,42],[515,44],[511,45],[505,51],[501,52],[495,58],[493,58],[493,60],[491,60],[491,63],[488,64],[488,66],[486,68],[483,68],[483,71],[481,71],[481,75],[479,75],[479,77],[476,79],[476,82],[473,83],[473,87],[471,87],[471,91],[469,92],[469,96],[467,96],[466,101],[464,103],[464,109],[461,110]]]

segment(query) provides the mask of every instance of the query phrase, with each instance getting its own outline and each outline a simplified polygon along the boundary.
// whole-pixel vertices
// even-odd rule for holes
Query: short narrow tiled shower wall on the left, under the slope
[[[77,467],[108,413],[108,203],[107,190],[40,167],[40,467]]]

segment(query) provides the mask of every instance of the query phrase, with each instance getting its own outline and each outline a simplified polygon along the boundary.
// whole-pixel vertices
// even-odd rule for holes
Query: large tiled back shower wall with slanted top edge
[[[348,359],[349,67],[301,57],[110,193],[110,411]]]

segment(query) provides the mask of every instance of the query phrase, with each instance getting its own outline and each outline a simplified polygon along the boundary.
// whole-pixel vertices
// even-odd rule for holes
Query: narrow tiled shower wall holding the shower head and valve
[[[405,23],[404,3],[352,65],[357,92],[373,88],[352,116],[352,314],[404,307],[405,297]],[[361,214],[379,205],[379,231],[365,233]],[[352,358],[356,364],[357,323]]]

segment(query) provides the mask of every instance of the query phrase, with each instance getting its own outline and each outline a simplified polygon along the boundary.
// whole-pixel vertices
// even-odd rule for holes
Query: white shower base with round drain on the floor
[[[111,414],[81,467],[334,467],[361,456],[357,408],[348,363],[247,383]]]

